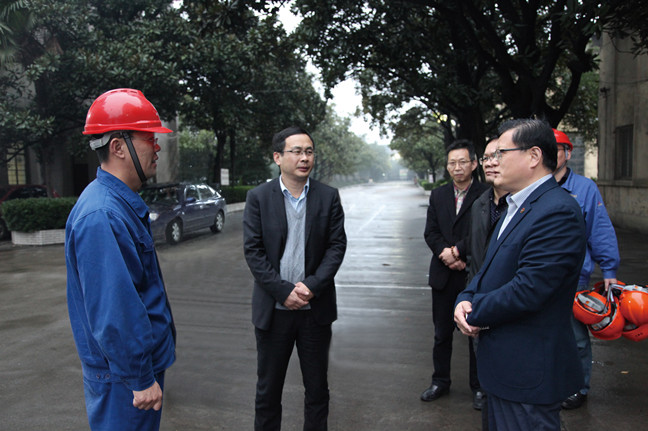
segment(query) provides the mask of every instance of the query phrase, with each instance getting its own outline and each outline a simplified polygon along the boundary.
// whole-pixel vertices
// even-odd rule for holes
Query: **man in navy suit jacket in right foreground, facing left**
[[[494,185],[510,193],[481,270],[459,294],[455,322],[479,336],[479,381],[493,430],[560,430],[560,403],[582,371],[570,328],[585,224],[553,178],[556,140],[547,123],[502,125]]]

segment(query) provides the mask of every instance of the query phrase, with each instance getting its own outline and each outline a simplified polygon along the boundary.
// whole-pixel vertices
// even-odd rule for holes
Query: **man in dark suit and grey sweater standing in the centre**
[[[247,194],[245,259],[254,276],[255,430],[281,429],[281,394],[295,344],[305,387],[304,430],[326,430],[328,354],[337,318],[333,277],[346,251],[338,191],[309,179],[314,143],[289,127],[272,139],[281,176]]]

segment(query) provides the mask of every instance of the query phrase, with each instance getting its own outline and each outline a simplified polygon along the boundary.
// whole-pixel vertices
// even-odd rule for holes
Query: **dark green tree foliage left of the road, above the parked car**
[[[262,152],[287,124],[315,129],[325,101],[274,15],[256,2],[30,0],[0,9],[0,160],[31,147],[49,183],[55,152],[85,155],[92,100],[137,88],[163,119],[211,130],[235,169],[237,142]],[[27,25],[29,23],[29,25]],[[256,144],[256,145],[255,145]]]

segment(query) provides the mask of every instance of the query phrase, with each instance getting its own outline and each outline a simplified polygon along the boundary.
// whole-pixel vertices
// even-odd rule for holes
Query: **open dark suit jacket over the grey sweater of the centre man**
[[[333,277],[346,251],[344,211],[338,191],[313,179],[306,199],[306,278],[315,321],[330,324],[337,318]],[[245,259],[254,276],[252,323],[267,330],[275,303],[284,303],[295,287],[282,280],[279,262],[286,245],[288,225],[279,178],[247,194],[243,214]]]

